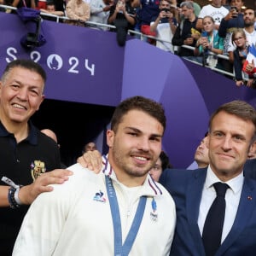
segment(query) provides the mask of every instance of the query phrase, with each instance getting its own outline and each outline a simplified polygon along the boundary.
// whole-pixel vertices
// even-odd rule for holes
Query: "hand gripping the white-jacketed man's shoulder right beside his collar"
[[[102,154],[98,150],[87,151],[78,158],[78,163],[95,173],[102,170]]]

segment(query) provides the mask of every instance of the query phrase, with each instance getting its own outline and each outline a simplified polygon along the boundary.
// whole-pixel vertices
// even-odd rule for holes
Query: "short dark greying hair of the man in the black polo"
[[[38,73],[42,79],[44,80],[44,83],[46,82],[46,73],[44,71],[44,68],[41,67],[37,62],[32,61],[32,60],[23,60],[23,59],[18,59],[15,61],[9,62],[9,64],[5,67],[3,71],[3,76],[2,76],[2,81],[6,79],[8,76],[9,72],[15,68],[15,67],[23,67],[26,69],[29,69],[35,73]]]

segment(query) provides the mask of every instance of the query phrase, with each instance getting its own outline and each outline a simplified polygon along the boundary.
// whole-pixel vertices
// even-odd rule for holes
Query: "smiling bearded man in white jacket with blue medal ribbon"
[[[168,255],[175,205],[148,174],[165,127],[159,103],[142,96],[121,102],[107,131],[102,172],[76,164],[68,183],[39,196],[24,218],[13,256]]]

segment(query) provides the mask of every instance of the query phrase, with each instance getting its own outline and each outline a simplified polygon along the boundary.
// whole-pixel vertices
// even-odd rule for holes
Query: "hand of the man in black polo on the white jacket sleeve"
[[[63,169],[43,173],[30,185],[20,188],[20,201],[25,205],[30,205],[39,194],[53,190],[49,184],[62,184],[68,180],[70,175],[73,175],[73,172]]]

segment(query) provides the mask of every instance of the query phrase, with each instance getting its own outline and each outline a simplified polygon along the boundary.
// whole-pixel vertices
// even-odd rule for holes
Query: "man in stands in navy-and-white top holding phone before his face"
[[[177,10],[167,0],[161,0],[159,8],[160,14],[150,23],[150,31],[156,32],[156,38],[172,42],[177,28],[177,20],[174,18]],[[157,40],[156,47],[174,52],[173,45],[167,42]]]

